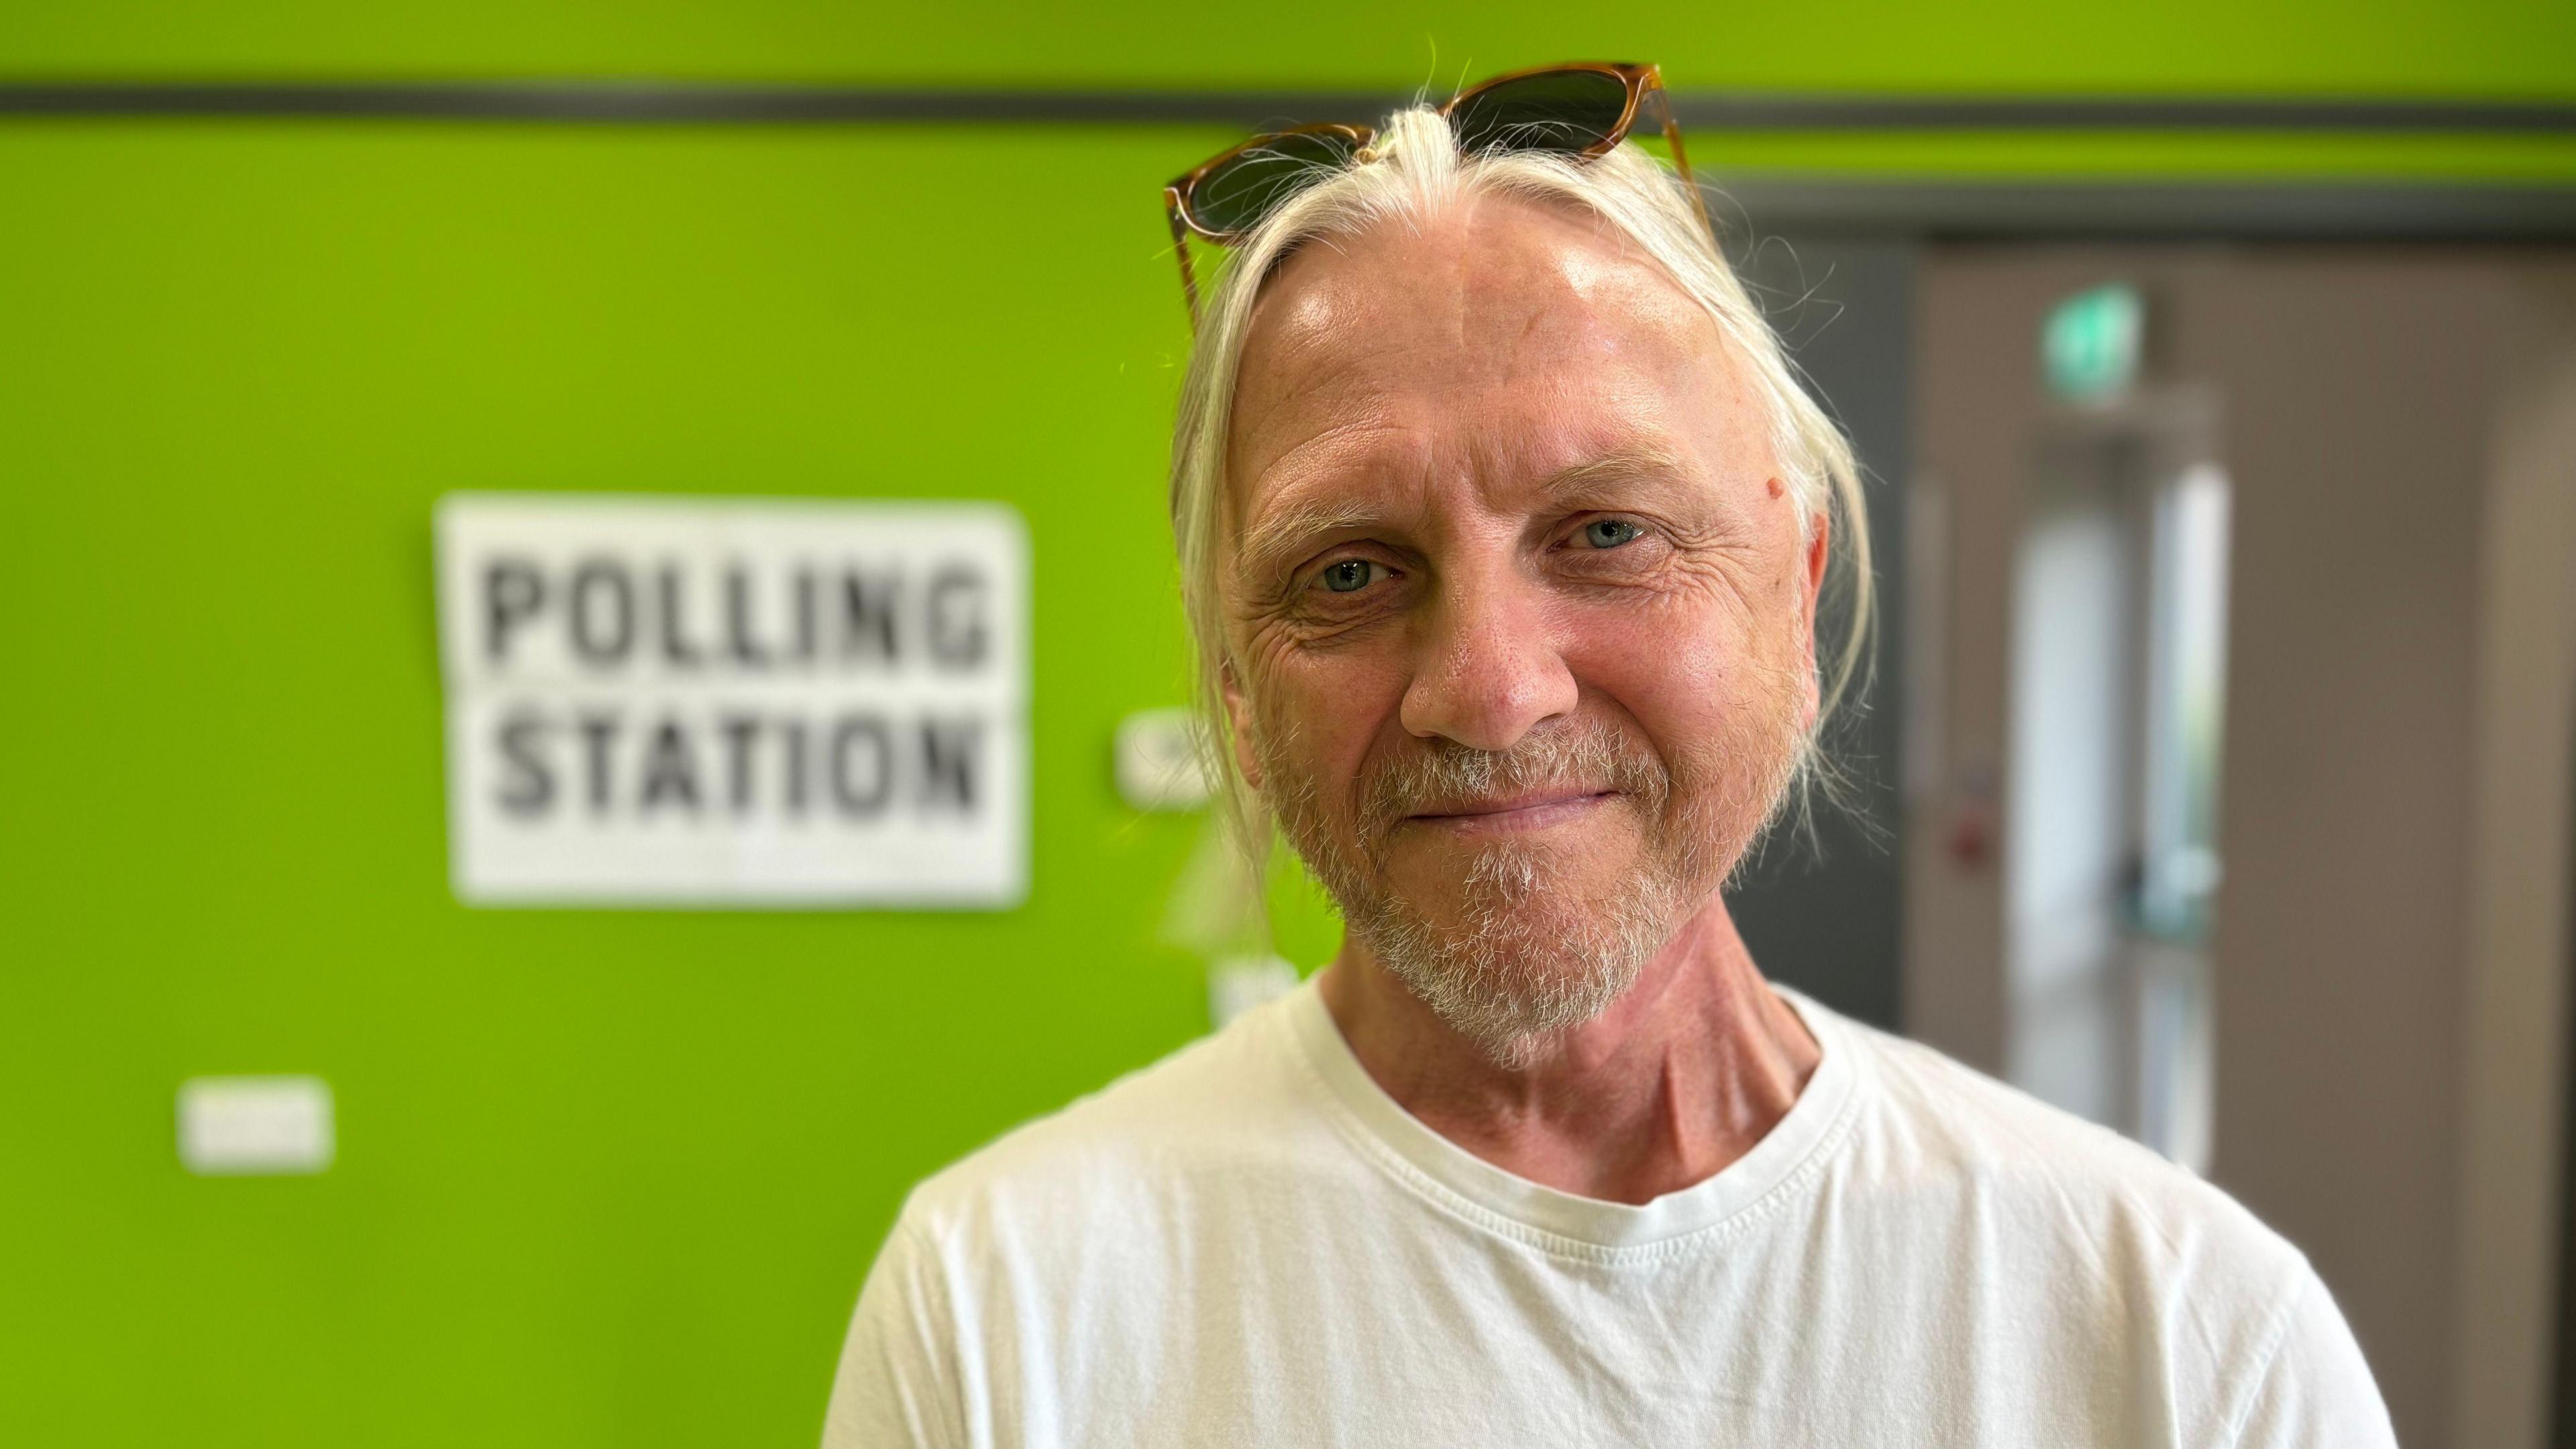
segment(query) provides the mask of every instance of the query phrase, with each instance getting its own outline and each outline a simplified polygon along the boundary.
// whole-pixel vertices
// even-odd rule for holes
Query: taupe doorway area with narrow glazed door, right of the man
[[[2102,286],[2138,374],[2071,402]],[[2401,1441],[2540,1444],[2566,967],[2496,920],[2568,789],[2499,730],[2576,673],[2576,258],[1924,242],[1914,294],[1906,1029],[2290,1238]]]

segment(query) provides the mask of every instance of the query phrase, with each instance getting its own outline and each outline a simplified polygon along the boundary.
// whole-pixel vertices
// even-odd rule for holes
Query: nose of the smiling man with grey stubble
[[[1538,588],[1507,570],[1450,578],[1419,624],[1404,730],[1471,750],[1510,750],[1574,712],[1577,686]]]

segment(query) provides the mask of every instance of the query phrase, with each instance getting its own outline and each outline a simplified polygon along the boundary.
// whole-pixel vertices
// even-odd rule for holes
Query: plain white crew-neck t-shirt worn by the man
[[[922,1183],[824,1446],[2393,1444],[2226,1194],[1783,995],[1795,1106],[1631,1207],[1412,1119],[1306,982]]]

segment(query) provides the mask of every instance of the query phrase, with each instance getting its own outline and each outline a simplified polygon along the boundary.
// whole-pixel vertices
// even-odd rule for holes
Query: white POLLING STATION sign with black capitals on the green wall
[[[456,492],[469,905],[1028,892],[1028,536],[999,503]]]

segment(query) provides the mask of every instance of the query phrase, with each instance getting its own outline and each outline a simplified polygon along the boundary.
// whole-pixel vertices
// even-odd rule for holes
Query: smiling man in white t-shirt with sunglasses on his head
[[[2223,1194],[1765,985],[1718,887],[1857,474],[1623,144],[1651,70],[1538,83],[1175,186],[1213,730],[1347,938],[922,1183],[824,1441],[2391,1444]]]

